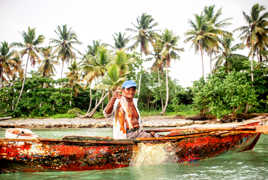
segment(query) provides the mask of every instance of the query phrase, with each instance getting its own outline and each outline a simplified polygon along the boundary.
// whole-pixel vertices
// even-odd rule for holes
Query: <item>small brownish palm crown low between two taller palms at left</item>
[[[52,47],[46,47],[41,49],[41,54],[44,57],[38,71],[43,77],[50,77],[55,75],[55,66],[57,61],[54,60],[55,56],[52,55]]]

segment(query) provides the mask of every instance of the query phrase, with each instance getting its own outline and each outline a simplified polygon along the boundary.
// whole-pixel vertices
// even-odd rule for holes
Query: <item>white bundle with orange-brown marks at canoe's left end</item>
[[[10,128],[6,130],[5,138],[7,139],[36,139],[38,136],[30,129]]]

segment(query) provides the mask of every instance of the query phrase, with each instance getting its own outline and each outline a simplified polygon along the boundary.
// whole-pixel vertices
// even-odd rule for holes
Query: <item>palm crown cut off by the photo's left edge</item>
[[[11,51],[10,46],[6,41],[0,45],[0,88],[3,83],[8,81],[19,69],[19,54],[16,51]]]

